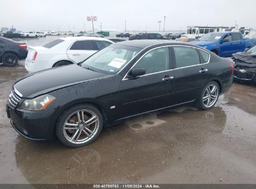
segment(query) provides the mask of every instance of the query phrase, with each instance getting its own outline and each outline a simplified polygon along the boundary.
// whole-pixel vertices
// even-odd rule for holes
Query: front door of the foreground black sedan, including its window
[[[120,117],[163,108],[173,102],[170,93],[174,74],[170,70],[168,47],[149,51],[135,63],[134,68],[145,68],[146,74],[136,79],[125,76],[121,80]]]

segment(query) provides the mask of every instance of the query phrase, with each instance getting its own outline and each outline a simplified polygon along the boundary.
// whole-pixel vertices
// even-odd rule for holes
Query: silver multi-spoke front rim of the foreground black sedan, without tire
[[[99,125],[98,116],[93,111],[78,110],[66,119],[63,127],[64,136],[73,144],[83,144],[95,136]]]

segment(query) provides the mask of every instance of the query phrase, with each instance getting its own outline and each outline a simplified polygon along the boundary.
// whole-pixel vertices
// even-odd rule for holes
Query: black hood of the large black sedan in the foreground
[[[22,94],[22,97],[34,98],[59,88],[97,80],[105,76],[109,75],[87,70],[73,64],[27,75],[17,81],[14,84],[14,88]]]

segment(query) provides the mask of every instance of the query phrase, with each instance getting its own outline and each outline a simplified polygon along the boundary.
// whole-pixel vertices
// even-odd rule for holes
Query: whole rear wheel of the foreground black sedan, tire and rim
[[[197,106],[200,109],[211,109],[219,98],[219,85],[215,81],[207,83],[201,91]]]

